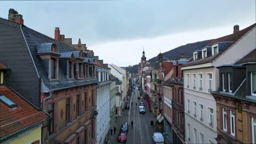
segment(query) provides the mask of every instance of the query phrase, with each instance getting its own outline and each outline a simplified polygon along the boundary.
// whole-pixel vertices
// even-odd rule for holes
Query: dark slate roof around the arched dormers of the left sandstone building
[[[92,79],[90,77],[90,79],[84,79],[84,80],[77,80],[74,76],[74,80],[73,82],[70,82],[67,80],[66,75],[65,75],[65,71],[66,71],[66,67],[65,68],[61,68],[59,67],[59,81],[50,81],[48,79],[48,74],[43,66],[43,62],[42,60],[37,56],[37,45],[38,44],[47,44],[47,43],[51,43],[51,44],[56,44],[57,49],[59,50],[59,53],[62,52],[74,52],[77,51],[77,49],[75,49],[72,46],[69,46],[67,44],[61,43],[60,41],[57,41],[53,38],[50,38],[42,33],[39,33],[37,31],[34,31],[31,28],[28,28],[24,25],[20,25],[19,23],[13,22],[13,21],[8,21],[5,19],[0,18],[0,23],[2,23],[3,25],[6,26],[10,26],[10,27],[16,27],[19,28],[21,26],[22,29],[22,33],[24,34],[24,37],[20,37],[20,35],[18,35],[17,37],[19,37],[19,39],[21,40],[26,40],[28,48],[31,52],[31,56],[32,59],[34,61],[34,64],[36,65],[36,69],[38,71],[38,77],[41,77],[41,79],[44,82],[44,85],[49,88],[49,89],[60,89],[60,88],[65,88],[65,87],[76,87],[76,86],[82,86],[82,85],[90,85],[91,83],[97,83],[97,79]],[[21,31],[21,30],[19,30]],[[74,55],[76,53],[74,52]],[[61,60],[59,60],[61,61]],[[90,63],[94,63],[94,58],[90,58],[89,59]]]

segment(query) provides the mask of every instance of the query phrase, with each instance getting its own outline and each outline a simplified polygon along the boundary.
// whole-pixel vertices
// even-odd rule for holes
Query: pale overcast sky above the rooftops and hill
[[[231,34],[255,23],[255,0],[214,1],[1,1],[0,17],[13,8],[24,24],[54,38],[81,38],[104,63],[137,64],[177,46]],[[199,47],[200,48],[200,47]]]

